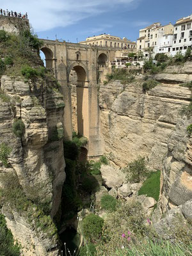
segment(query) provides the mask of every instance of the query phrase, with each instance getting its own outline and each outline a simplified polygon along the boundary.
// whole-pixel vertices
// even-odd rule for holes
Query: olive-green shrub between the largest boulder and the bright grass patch
[[[148,169],[145,166],[145,158],[139,156],[137,160],[129,163],[123,171],[127,173],[127,180],[129,182],[140,182],[148,174]]]

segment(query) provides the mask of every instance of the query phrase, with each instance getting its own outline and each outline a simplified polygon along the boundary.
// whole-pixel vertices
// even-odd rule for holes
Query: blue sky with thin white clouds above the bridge
[[[79,42],[109,33],[136,40],[153,22],[175,23],[192,13],[192,0],[1,0],[0,8],[28,12],[39,38]]]

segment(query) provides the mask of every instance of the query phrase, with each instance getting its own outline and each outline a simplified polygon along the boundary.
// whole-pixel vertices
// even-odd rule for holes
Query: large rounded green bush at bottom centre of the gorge
[[[102,233],[104,220],[91,213],[82,221],[83,235],[87,241],[97,241]]]

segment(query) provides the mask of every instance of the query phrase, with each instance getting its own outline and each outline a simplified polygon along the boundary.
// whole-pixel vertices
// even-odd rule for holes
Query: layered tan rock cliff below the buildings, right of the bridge
[[[179,86],[192,81],[192,63],[168,67],[157,74],[155,88],[143,92],[141,77],[100,86],[102,134],[105,151],[116,166],[124,167],[145,156],[148,168],[162,170],[161,207],[184,204],[192,196],[192,141],[186,131],[192,118],[182,114],[191,91]]]

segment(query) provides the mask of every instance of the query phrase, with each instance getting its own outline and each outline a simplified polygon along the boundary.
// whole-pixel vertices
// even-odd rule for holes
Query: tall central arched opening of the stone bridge
[[[71,86],[73,131],[88,138],[88,81],[83,67],[77,65],[72,68],[69,76],[69,84]]]

